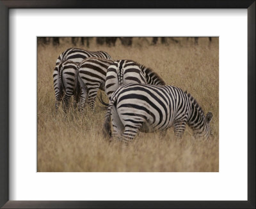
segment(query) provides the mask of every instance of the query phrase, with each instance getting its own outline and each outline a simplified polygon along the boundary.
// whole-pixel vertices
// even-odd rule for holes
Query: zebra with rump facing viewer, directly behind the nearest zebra
[[[127,83],[148,83],[165,85],[162,78],[152,69],[131,60],[119,60],[109,66],[106,76],[105,92],[108,98],[121,85]]]

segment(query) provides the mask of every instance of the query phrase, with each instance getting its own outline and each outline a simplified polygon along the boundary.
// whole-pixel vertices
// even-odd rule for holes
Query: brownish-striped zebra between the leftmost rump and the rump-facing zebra
[[[106,73],[108,67],[113,64],[111,59],[104,59],[98,57],[90,57],[84,59],[77,68],[79,77],[83,81],[86,88],[82,89],[81,102],[79,103],[79,110],[83,110],[88,95],[88,103],[93,110],[95,106],[95,99],[99,89],[104,90]],[[84,91],[86,89],[87,92]]]

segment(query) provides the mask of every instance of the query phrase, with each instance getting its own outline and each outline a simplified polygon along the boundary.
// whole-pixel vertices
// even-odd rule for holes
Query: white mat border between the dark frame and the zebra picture
[[[36,173],[36,36],[220,36],[220,172]],[[10,199],[246,200],[246,45],[246,10],[10,10]]]

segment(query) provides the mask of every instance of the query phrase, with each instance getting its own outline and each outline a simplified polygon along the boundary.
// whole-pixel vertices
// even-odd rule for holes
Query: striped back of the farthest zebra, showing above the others
[[[90,51],[83,50],[81,48],[68,48],[67,50],[62,52],[58,57],[56,61],[56,66],[60,62],[67,61],[67,60],[80,63],[88,57],[102,57],[105,59],[111,59],[111,56],[107,52],[102,52],[102,51],[90,52]]]

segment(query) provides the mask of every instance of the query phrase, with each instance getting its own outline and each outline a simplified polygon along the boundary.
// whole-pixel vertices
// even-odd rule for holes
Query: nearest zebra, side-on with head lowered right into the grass
[[[117,89],[109,101],[104,136],[131,141],[138,131],[151,133],[174,126],[176,138],[182,138],[186,123],[195,137],[208,138],[212,113],[204,116],[196,100],[171,85],[127,84]]]

